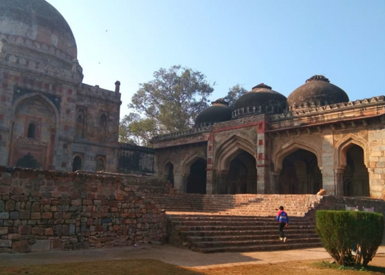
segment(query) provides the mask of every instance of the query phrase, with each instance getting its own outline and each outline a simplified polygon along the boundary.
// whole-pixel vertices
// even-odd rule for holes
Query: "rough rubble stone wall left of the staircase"
[[[0,166],[0,252],[162,242],[165,213],[146,196],[165,192],[154,177]]]

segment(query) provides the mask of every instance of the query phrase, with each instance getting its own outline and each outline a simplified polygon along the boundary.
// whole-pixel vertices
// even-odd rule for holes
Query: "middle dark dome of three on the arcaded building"
[[[287,98],[283,94],[273,91],[272,87],[261,83],[236,100],[234,110],[243,108],[245,114],[250,112],[280,113],[283,109],[286,109],[286,100]]]

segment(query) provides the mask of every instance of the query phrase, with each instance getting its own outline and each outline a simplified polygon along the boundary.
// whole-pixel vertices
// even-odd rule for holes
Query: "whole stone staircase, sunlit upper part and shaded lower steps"
[[[152,197],[166,210],[168,242],[203,253],[319,247],[314,208],[317,195],[199,195]],[[287,242],[279,240],[275,214],[289,214]]]

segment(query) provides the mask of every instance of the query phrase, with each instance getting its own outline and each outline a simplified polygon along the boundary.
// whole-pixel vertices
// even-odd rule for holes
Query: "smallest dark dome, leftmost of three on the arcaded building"
[[[212,124],[214,122],[223,122],[231,120],[232,109],[229,107],[228,102],[225,102],[222,98],[215,100],[212,105],[199,113],[195,119],[195,125],[200,124]]]

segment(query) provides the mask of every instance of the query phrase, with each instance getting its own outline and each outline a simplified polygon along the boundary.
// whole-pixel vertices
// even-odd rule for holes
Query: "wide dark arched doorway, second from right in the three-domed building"
[[[315,194],[322,188],[322,173],[314,153],[298,149],[283,159],[280,194]]]

